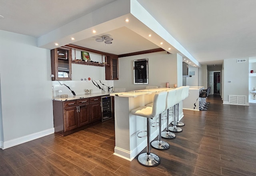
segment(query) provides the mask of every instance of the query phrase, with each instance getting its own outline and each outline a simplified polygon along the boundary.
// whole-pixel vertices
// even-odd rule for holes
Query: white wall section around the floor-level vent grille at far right
[[[222,99],[224,103],[227,103],[228,95],[245,95],[246,102],[248,103],[248,70],[249,70],[249,59],[246,62],[237,63],[236,59],[225,59],[224,60],[224,74],[223,86],[224,92],[222,92]],[[228,82],[231,81],[231,82]]]

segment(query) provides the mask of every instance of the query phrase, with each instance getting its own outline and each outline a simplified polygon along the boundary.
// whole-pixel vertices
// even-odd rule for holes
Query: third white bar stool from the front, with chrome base
[[[167,98],[166,98],[166,119],[167,119],[167,124],[166,124],[166,131],[161,132],[162,138],[165,139],[174,139],[176,138],[176,135],[173,132],[170,132],[168,127],[169,127],[169,116],[170,116],[170,108],[175,105],[175,94],[176,94],[176,89],[171,89],[167,91]]]

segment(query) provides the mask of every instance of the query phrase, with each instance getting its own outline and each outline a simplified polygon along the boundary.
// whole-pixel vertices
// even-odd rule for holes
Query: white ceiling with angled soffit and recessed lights
[[[133,24],[126,26],[114,14],[126,16],[127,5],[122,4],[127,2],[0,0],[0,15],[4,17],[0,19],[0,29],[36,37],[42,48],[49,47],[40,46],[40,42],[58,38],[61,44],[68,44],[64,38],[76,34],[76,40],[69,43],[112,54],[161,47],[200,64],[222,64],[224,59],[256,56],[255,0],[131,0],[131,4],[138,2],[146,11],[128,12]],[[155,19],[152,24],[158,28],[147,27],[147,19]],[[98,33],[88,33],[96,27],[100,27]],[[60,32],[62,29],[65,30]],[[158,29],[161,32],[156,32]],[[148,38],[149,33],[157,38]],[[114,38],[113,43],[96,42],[102,35]],[[161,40],[171,50],[161,46]]]

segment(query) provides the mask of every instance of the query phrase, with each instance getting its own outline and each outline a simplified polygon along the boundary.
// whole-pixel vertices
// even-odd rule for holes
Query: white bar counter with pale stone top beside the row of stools
[[[115,148],[114,154],[126,160],[133,160],[145,147],[146,138],[138,138],[140,131],[146,130],[146,118],[134,116],[131,110],[152,103],[156,92],[166,91],[172,88],[143,89],[130,92],[113,92],[110,96],[115,99]],[[165,120],[164,120],[165,121]],[[162,130],[166,122],[162,123]],[[158,117],[152,122],[158,122]],[[146,135],[146,133],[142,133]],[[151,139],[158,136],[158,127],[150,127]]]

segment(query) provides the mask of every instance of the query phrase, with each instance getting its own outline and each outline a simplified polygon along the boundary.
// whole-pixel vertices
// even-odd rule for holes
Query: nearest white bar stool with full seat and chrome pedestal
[[[141,106],[131,111],[132,114],[136,116],[142,116],[147,118],[147,152],[138,155],[138,162],[143,166],[157,166],[160,164],[160,158],[154,154],[150,153],[150,118],[161,114],[165,109],[167,92],[159,92],[154,95],[153,105]]]

